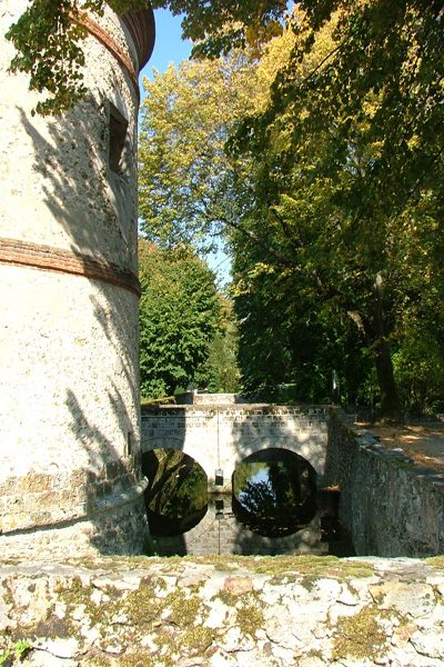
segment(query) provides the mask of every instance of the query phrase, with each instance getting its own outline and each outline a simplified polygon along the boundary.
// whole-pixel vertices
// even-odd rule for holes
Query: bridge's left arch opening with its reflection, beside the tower
[[[184,534],[208,509],[208,478],[190,456],[175,449],[154,449],[142,456],[148,478],[144,492],[150,532],[154,537]]]

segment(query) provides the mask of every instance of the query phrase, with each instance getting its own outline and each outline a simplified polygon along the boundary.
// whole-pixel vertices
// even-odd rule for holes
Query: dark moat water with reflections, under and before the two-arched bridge
[[[208,497],[200,466],[168,451],[145,468],[152,554],[354,555],[337,520],[339,494],[319,491],[301,457],[286,450],[252,455],[234,471],[232,494]]]

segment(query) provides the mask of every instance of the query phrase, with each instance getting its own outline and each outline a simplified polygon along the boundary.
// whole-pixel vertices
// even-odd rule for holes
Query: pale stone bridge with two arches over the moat
[[[142,454],[179,449],[206,474],[209,490],[231,491],[239,462],[270,448],[307,460],[322,484],[327,446],[327,406],[200,405],[142,408]]]

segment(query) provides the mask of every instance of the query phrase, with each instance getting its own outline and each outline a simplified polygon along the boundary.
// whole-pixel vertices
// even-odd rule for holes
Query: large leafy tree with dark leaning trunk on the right
[[[397,415],[402,313],[442,290],[437,256],[421,250],[442,247],[441,3],[301,6],[271,104],[239,135],[239,152],[261,165],[244,222],[282,257],[255,250],[250,275],[292,270],[317,318],[347,316],[374,359],[383,414]],[[330,52],[304,69],[329,21]]]

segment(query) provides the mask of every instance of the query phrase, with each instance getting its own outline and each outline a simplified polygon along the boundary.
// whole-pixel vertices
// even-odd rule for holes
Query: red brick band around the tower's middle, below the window
[[[125,271],[114,263],[80,252],[74,253],[51,246],[0,238],[0,263],[101,280],[128,289],[140,297],[140,282],[134,273]]]

